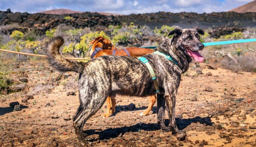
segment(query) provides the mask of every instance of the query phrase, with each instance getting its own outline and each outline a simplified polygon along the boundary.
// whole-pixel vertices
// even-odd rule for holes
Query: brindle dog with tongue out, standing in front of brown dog
[[[156,47],[156,50],[170,54],[176,61],[158,54],[144,55],[154,69],[160,93],[157,94],[157,122],[162,131],[178,133],[175,122],[175,102],[181,74],[187,71],[194,58],[202,61],[199,50],[204,48],[200,42],[201,29],[174,29],[168,35],[171,39]],[[62,37],[51,39],[44,49],[48,62],[61,72],[75,71],[79,75],[80,106],[73,116],[73,126],[82,145],[85,141],[83,127],[104,104],[107,97],[116,95],[147,97],[155,94],[155,87],[147,66],[139,59],[127,56],[101,56],[89,62],[75,62],[63,58],[59,47]],[[169,116],[169,126],[164,124],[165,102]]]

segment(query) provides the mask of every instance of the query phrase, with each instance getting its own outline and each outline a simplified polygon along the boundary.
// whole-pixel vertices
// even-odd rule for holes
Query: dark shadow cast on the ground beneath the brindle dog
[[[179,128],[179,130],[183,130],[184,128],[186,128],[188,125],[190,125],[191,123],[201,123],[201,124],[206,124],[209,126],[212,126],[212,121],[210,117],[194,117],[194,118],[188,118],[188,119],[180,119],[180,118],[176,118],[176,123],[177,123],[177,127]],[[165,120],[165,124],[168,125],[169,124],[169,120]],[[118,136],[120,136],[120,134],[124,134],[125,132],[140,132],[140,130],[145,130],[145,131],[155,131],[155,130],[159,130],[159,126],[157,123],[149,123],[149,124],[145,124],[145,123],[140,123],[140,124],[136,124],[133,126],[129,126],[129,127],[120,127],[120,128],[108,128],[106,130],[100,130],[100,129],[89,129],[89,130],[85,130],[84,133],[87,134],[87,138],[90,141],[96,141],[98,139],[100,140],[104,140],[104,139],[110,139],[110,138],[116,138]],[[94,134],[99,134],[99,138],[94,138],[94,137],[90,137]]]

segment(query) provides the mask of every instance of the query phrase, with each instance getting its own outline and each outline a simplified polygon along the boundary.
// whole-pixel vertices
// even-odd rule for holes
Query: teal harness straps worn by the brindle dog
[[[153,53],[164,56],[166,59],[171,60],[173,63],[175,63],[177,65],[177,61],[175,59],[173,59],[169,54],[166,54],[166,53],[161,52],[161,51],[155,51]],[[140,59],[147,66],[147,68],[150,72],[151,78],[153,80],[154,86],[155,86],[155,91],[156,91],[156,93],[159,93],[159,87],[158,87],[158,84],[156,82],[155,72],[154,72],[152,66],[149,64],[148,59],[145,58],[145,57],[138,57],[138,59]]]

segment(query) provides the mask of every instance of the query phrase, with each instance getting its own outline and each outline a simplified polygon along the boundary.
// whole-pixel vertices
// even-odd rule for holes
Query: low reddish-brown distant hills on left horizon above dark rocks
[[[82,11],[74,11],[74,10],[69,10],[69,9],[54,9],[54,10],[48,10],[48,11],[42,11],[42,12],[38,12],[38,13],[43,13],[43,14],[74,14],[74,13],[83,13]],[[104,13],[104,12],[97,12],[101,15],[114,15],[117,16],[118,14],[112,14],[112,13]]]

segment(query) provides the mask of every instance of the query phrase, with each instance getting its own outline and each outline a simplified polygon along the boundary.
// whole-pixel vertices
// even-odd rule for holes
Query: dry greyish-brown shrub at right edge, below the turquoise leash
[[[221,61],[221,66],[232,71],[250,71],[256,72],[256,53],[251,53],[244,56],[234,57],[238,63],[230,58],[225,58]]]

